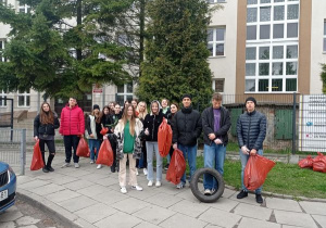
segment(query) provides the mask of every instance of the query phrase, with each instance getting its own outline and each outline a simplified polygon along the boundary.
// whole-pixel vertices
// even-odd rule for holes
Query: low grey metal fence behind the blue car
[[[0,128],[0,161],[25,174],[26,129]]]

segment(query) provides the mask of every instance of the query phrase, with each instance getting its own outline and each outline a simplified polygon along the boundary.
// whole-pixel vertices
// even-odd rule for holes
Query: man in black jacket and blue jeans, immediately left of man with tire
[[[183,151],[185,160],[188,159],[190,168],[190,180],[196,172],[197,157],[197,139],[202,129],[200,113],[191,106],[191,96],[183,96],[183,109],[178,111],[172,122],[172,142],[173,149]],[[189,180],[189,181],[190,181]],[[186,172],[181,177],[181,181],[177,185],[177,189],[184,188],[186,185]]]

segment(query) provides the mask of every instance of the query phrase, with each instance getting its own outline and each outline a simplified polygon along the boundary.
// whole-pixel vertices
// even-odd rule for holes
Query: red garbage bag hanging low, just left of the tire
[[[184,157],[183,151],[176,149],[174,150],[168,169],[166,172],[166,180],[178,185],[181,177],[186,170],[186,160]]]

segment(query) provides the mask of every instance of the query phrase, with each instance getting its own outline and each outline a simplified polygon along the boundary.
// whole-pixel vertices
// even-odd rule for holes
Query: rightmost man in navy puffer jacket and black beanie
[[[248,160],[255,154],[263,155],[263,142],[266,137],[266,116],[255,110],[256,101],[253,97],[246,99],[247,112],[241,114],[237,121],[237,137],[240,148],[241,160],[241,185],[242,189],[238,193],[237,199],[248,197],[248,189],[243,183],[243,173]],[[263,203],[262,186],[255,189],[255,200],[258,203]]]

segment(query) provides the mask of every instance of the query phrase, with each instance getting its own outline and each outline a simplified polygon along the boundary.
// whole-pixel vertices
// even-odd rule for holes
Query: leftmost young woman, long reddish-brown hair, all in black
[[[60,127],[58,121],[58,115],[51,111],[50,104],[43,102],[39,114],[34,119],[34,139],[37,141],[39,139],[39,147],[42,153],[42,159],[45,162],[45,167],[42,170],[45,173],[54,172],[51,164],[55,155],[55,144],[54,144],[54,135],[55,129]],[[45,155],[45,144],[49,149],[48,162],[46,163]]]

